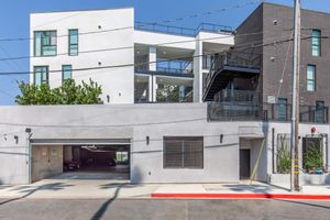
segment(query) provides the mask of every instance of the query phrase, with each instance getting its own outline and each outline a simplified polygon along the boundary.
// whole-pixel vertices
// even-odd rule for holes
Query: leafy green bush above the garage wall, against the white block
[[[100,95],[101,86],[89,79],[89,84],[82,81],[76,85],[74,79],[67,79],[64,84],[52,89],[47,84],[41,86],[19,84],[21,95],[15,97],[15,102],[21,106],[30,105],[94,105],[103,103]]]

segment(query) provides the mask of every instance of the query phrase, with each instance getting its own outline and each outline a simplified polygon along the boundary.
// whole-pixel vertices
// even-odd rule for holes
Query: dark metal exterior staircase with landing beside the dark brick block
[[[237,52],[216,54],[205,79],[204,100],[212,101],[215,95],[226,89],[233,78],[253,78],[260,69],[261,55]]]

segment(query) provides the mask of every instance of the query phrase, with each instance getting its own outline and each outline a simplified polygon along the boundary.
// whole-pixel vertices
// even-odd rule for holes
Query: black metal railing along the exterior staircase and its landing
[[[215,74],[223,69],[224,66],[241,67],[250,69],[261,68],[261,55],[242,52],[226,52],[221,54],[215,54],[212,57],[212,64],[209,74],[205,80],[205,89],[208,88]]]

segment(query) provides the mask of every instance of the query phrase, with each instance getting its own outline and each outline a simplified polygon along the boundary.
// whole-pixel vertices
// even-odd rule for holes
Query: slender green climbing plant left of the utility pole
[[[279,145],[277,146],[277,173],[289,174],[292,168],[292,158],[289,147],[287,146],[287,136],[279,138]]]

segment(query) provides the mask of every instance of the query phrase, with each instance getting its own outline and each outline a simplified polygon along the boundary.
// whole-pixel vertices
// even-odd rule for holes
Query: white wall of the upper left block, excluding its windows
[[[72,11],[31,14],[30,36],[34,31],[57,31],[57,56],[31,58],[30,70],[34,66],[48,66],[50,70],[61,70],[62,65],[72,65],[73,69],[105,67],[134,64],[134,11],[133,9]],[[68,30],[78,29],[79,33],[101,32],[79,35],[79,55],[68,56]],[[121,29],[117,31],[108,31]],[[103,32],[102,32],[103,31]],[[31,41],[30,53],[33,56],[34,44]],[[82,53],[88,51],[125,47],[124,50]],[[30,80],[33,82],[33,75]],[[89,78],[102,86],[105,103],[110,96],[110,103],[133,103],[134,101],[134,67],[73,70],[77,82]],[[50,85],[62,85],[62,73],[50,73]]]

